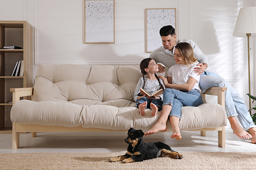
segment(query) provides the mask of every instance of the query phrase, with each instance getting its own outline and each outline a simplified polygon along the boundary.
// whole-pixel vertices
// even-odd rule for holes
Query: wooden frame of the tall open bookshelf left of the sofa
[[[22,28],[23,29],[23,49],[3,49],[6,39],[6,28]],[[0,21],[0,134],[12,133],[12,128],[5,127],[5,107],[6,105],[12,105],[6,101],[6,91],[10,92],[10,89],[6,89],[6,79],[23,79],[23,87],[32,87],[32,25],[27,21]],[[5,73],[5,54],[23,54],[24,61],[24,73],[22,77],[12,77]],[[15,65],[15,63],[14,63]],[[11,93],[11,92],[10,92]]]

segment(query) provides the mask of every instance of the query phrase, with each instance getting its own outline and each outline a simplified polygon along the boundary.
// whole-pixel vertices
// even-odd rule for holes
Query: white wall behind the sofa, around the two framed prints
[[[176,8],[178,39],[192,39],[209,67],[249,106],[247,41],[233,37],[239,9],[256,0],[115,0],[115,44],[84,44],[84,0],[0,0],[0,20],[34,26],[33,77],[39,63],[138,65],[145,53],[145,8]],[[159,37],[160,38],[160,37]],[[251,38],[251,84],[256,94],[256,38]]]

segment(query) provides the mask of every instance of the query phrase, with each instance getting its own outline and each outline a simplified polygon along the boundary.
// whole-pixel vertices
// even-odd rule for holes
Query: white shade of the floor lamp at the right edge
[[[256,7],[244,7],[239,10],[233,36],[247,37],[247,33],[256,37]]]

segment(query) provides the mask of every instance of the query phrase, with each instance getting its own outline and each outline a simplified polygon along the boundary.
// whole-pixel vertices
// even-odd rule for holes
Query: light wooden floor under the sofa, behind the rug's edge
[[[218,132],[183,131],[182,139],[171,139],[171,133],[158,132],[144,136],[144,142],[164,142],[177,152],[255,152],[256,144],[239,139],[232,129],[226,128],[226,148],[218,147]],[[41,132],[20,134],[20,147],[12,150],[12,134],[0,134],[0,153],[58,153],[58,152],[126,152],[127,132]]]

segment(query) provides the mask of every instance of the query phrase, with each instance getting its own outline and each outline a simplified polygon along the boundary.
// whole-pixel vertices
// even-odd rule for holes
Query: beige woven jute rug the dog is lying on
[[[1,170],[255,170],[256,152],[181,153],[183,159],[109,162],[125,153],[0,153]]]

